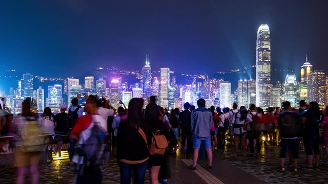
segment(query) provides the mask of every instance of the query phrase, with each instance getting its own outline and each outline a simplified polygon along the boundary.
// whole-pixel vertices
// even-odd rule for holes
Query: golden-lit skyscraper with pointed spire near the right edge
[[[312,65],[308,62],[308,55],[306,55],[305,63],[301,66],[301,86],[300,86],[300,100],[309,102],[308,99],[308,80],[312,71]]]

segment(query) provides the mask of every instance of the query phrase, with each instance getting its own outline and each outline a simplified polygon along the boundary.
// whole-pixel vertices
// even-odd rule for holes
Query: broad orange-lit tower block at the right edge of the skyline
[[[309,102],[318,102],[320,107],[325,107],[327,101],[326,75],[324,71],[314,71],[308,80]]]

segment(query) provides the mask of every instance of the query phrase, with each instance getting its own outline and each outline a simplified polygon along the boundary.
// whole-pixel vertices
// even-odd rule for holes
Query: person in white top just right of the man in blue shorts
[[[224,107],[223,113],[219,116],[219,149],[224,149],[226,145],[226,132],[230,126],[229,108]]]

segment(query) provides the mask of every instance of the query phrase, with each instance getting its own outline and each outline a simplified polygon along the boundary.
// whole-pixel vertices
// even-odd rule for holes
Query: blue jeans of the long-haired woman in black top
[[[148,161],[140,164],[126,164],[119,163],[119,172],[120,172],[120,183],[121,184],[130,184],[131,176],[133,172],[133,179],[135,184],[144,184],[145,183],[145,174],[148,166]]]

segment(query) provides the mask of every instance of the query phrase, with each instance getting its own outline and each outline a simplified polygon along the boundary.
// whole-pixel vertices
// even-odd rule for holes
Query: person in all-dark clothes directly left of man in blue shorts
[[[179,116],[179,125],[181,129],[181,144],[182,144],[182,152],[186,154],[186,158],[190,158],[190,154],[192,153],[192,133],[191,133],[191,110],[190,103],[186,102],[183,107],[183,110]]]

